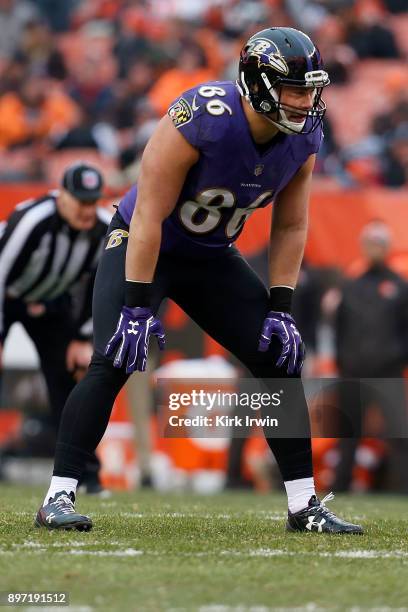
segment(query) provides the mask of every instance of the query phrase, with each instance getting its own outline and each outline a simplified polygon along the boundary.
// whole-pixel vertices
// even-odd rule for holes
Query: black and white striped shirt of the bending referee
[[[91,230],[74,230],[58,212],[57,195],[53,191],[18,204],[0,224],[0,338],[5,299],[53,300],[96,269],[111,214],[98,208]],[[91,292],[87,293],[90,300]],[[79,325],[83,335],[89,335],[91,321]]]

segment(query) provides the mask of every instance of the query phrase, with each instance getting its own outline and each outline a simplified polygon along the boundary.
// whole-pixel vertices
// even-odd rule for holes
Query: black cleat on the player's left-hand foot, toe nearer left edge
[[[46,529],[90,531],[92,521],[88,516],[75,512],[73,492],[68,495],[66,491],[59,491],[54,497],[49,498],[48,504],[39,509],[35,518],[35,526]]]

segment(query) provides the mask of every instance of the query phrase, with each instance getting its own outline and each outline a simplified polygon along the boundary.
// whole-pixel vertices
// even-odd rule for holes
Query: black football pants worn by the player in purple
[[[118,213],[108,233],[128,227]],[[99,444],[114,400],[128,376],[104,357],[125,295],[127,239],[105,249],[99,263],[93,298],[94,355],[86,376],[72,391],[59,430],[54,475],[78,478],[83,462]],[[202,249],[190,254],[161,254],[154,278],[153,310],[163,298],[174,300],[205,332],[235,355],[256,378],[284,378],[275,366],[281,347],[274,337],[270,350],[257,350],[268,292],[235,247]],[[299,381],[300,384],[300,381]],[[301,410],[307,419],[303,393]],[[270,438],[284,480],[312,476],[310,437]]]

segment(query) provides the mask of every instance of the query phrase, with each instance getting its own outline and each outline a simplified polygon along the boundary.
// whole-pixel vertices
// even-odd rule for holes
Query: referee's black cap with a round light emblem
[[[62,186],[77,200],[94,202],[102,196],[103,178],[95,166],[76,162],[65,170]]]

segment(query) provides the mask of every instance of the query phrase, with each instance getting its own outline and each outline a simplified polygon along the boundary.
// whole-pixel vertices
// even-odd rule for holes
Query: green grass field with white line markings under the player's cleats
[[[82,496],[81,534],[33,527],[43,493],[0,486],[0,591],[66,591],[84,612],[408,610],[408,499],[338,496],[366,534],[322,536],[285,533],[282,495]]]

